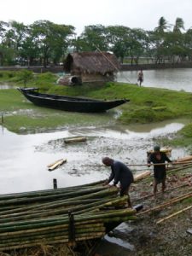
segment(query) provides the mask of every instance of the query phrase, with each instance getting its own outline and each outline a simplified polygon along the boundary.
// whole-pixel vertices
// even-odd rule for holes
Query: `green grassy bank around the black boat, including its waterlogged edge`
[[[108,83],[100,85],[86,84],[82,86],[56,85],[58,77],[52,73],[33,74],[26,86],[38,86],[41,91],[68,96],[88,96],[97,99],[128,98],[130,102],[108,113],[83,114],[67,113],[48,108],[38,108],[27,102],[24,96],[15,89],[0,90],[0,112],[3,113],[4,125],[10,130],[19,132],[55,129],[65,125],[96,124],[103,121],[119,122],[123,125],[131,123],[151,123],[165,119],[186,117],[192,119],[192,94],[157,88],[138,87],[135,84]],[[20,73],[0,73],[0,82],[23,86]],[[119,119],[113,119],[113,113],[119,109]],[[112,121],[113,119],[113,121]],[[51,121],[50,121],[51,120]],[[190,127],[190,126],[189,126]],[[187,127],[185,129],[188,129]],[[191,137],[190,129],[187,132]],[[186,137],[186,132],[180,136]]]

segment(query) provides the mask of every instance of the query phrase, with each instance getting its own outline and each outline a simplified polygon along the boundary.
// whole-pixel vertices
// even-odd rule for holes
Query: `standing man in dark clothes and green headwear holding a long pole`
[[[172,163],[172,160],[166,156],[166,153],[160,152],[160,146],[154,146],[154,152],[148,157],[148,167],[151,162],[154,164],[154,198],[156,197],[157,185],[159,183],[162,183],[162,193],[166,189],[166,161]]]

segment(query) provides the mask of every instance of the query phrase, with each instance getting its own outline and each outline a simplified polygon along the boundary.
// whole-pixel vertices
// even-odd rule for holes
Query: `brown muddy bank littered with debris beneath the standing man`
[[[139,212],[137,221],[120,224],[97,244],[94,256],[191,255],[192,236],[188,230],[191,229],[192,208],[181,212],[191,206],[191,167],[168,174],[166,193],[161,194],[159,185],[159,193],[155,201],[150,185],[152,181],[153,179],[149,179],[142,183],[132,184],[130,192],[132,203],[133,205],[142,203],[143,212],[154,207],[158,208],[163,205],[164,207],[154,212]],[[168,204],[182,195],[189,197],[187,200]],[[166,219],[179,211],[177,215]],[[158,224],[160,221],[161,223]]]

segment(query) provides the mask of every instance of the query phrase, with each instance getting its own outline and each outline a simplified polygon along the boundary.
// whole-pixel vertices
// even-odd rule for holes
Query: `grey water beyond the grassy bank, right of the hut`
[[[144,70],[143,73],[142,86],[192,92],[191,68]],[[137,71],[120,72],[117,75],[117,80],[118,82],[137,84]]]

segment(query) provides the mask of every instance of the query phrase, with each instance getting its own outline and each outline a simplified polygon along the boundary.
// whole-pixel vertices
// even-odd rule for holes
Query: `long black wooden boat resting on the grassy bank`
[[[35,105],[73,112],[105,112],[108,109],[115,108],[125,102],[129,102],[127,99],[100,101],[87,98],[45,94],[39,93],[38,88],[18,88],[18,90],[20,90],[20,92]]]

